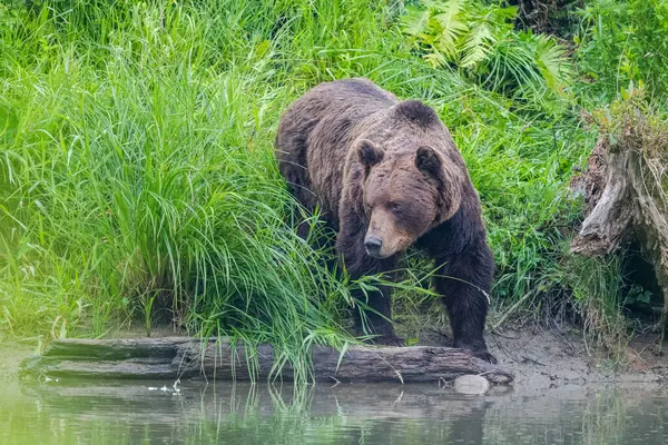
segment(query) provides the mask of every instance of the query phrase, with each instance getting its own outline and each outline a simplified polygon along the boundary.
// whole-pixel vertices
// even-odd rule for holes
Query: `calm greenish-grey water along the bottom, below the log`
[[[171,382],[0,387],[0,444],[665,444],[668,389]],[[160,390],[165,385],[168,390]],[[150,387],[157,389],[150,389]]]

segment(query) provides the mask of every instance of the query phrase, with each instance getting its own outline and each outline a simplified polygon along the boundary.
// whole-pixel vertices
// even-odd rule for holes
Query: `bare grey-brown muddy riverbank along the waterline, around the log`
[[[170,328],[156,328],[151,337],[185,335]],[[141,338],[140,329],[114,333],[111,338]],[[503,368],[514,376],[513,390],[520,394],[540,393],[564,386],[641,385],[647,388],[666,386],[668,357],[659,352],[659,335],[645,334],[632,338],[628,346],[607,358],[584,342],[581,330],[562,325],[542,328],[537,325],[517,332],[488,333],[490,352]],[[424,337],[420,345],[440,345],[442,339]],[[441,343],[442,344],[442,343]],[[35,353],[26,343],[4,339],[0,347],[0,382],[16,379],[20,362]]]

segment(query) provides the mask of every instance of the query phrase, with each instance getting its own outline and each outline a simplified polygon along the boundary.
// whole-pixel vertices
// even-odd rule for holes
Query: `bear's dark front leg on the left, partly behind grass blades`
[[[364,228],[352,230],[342,225],[336,239],[336,249],[348,276],[360,279],[365,275],[392,271],[396,268],[396,258],[377,259],[366,255],[364,249]],[[353,290],[353,298],[363,301],[369,309],[355,308],[355,335],[373,335],[371,342],[380,345],[403,346],[403,340],[394,334],[392,326],[392,289],[377,286],[377,290]]]

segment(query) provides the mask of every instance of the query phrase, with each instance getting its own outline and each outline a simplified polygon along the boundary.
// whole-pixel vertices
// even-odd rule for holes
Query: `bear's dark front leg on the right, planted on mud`
[[[452,326],[453,346],[469,349],[487,362],[497,363],[484,342],[484,323],[492,288],[494,260],[484,241],[466,246],[458,254],[436,258],[443,266],[434,286]]]

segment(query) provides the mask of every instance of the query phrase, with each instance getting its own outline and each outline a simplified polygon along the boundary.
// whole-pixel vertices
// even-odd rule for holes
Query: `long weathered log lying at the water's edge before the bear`
[[[450,347],[348,346],[342,353],[314,346],[311,362],[316,382],[439,383],[463,374],[481,374],[497,385],[513,380],[502,367]],[[51,379],[293,380],[295,369],[278,363],[271,345],[252,348],[225,339],[164,337],[56,340],[42,355],[26,359],[21,374]]]

